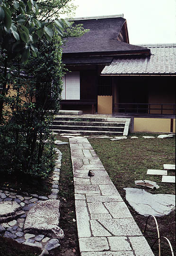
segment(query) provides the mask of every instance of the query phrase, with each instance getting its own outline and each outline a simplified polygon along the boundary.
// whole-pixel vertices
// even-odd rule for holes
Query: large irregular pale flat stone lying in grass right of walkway
[[[161,217],[175,209],[175,195],[151,194],[135,188],[124,188],[124,190],[126,190],[126,200],[141,215]]]

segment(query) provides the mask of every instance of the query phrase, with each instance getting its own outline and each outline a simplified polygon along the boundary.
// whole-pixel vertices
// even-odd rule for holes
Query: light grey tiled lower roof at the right
[[[101,74],[176,74],[176,44],[144,46],[150,49],[150,56],[114,58]]]

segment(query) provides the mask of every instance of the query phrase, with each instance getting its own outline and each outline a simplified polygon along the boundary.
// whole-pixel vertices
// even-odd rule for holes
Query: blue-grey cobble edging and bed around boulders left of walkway
[[[62,153],[58,148],[55,148],[55,154],[57,155],[57,160],[55,161],[55,168],[52,175],[52,193],[46,196],[38,196],[37,194],[28,194],[27,192],[22,192],[18,194],[13,189],[2,188],[0,190],[0,202],[9,201],[17,202],[21,207],[19,211],[15,211],[13,215],[7,217],[6,221],[0,223],[0,236],[4,238],[11,238],[32,247],[39,247],[41,249],[46,249],[47,251],[59,247],[59,240],[56,238],[49,238],[43,234],[29,234],[24,232],[24,223],[26,219],[27,212],[35,206],[35,203],[40,201],[46,201],[48,199],[57,199],[57,194],[59,192],[59,178],[61,169]],[[4,217],[3,217],[4,218]],[[0,218],[0,222],[4,221]]]

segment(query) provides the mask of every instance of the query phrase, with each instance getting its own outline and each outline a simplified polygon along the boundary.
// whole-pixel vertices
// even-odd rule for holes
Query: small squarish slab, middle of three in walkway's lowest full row
[[[107,238],[111,251],[131,251],[132,247],[127,237],[110,237]]]

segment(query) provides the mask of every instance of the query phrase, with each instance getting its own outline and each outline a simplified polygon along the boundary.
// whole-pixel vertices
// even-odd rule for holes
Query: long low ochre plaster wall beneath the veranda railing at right
[[[134,118],[134,132],[170,132],[171,119]],[[175,132],[176,119],[174,119]]]

